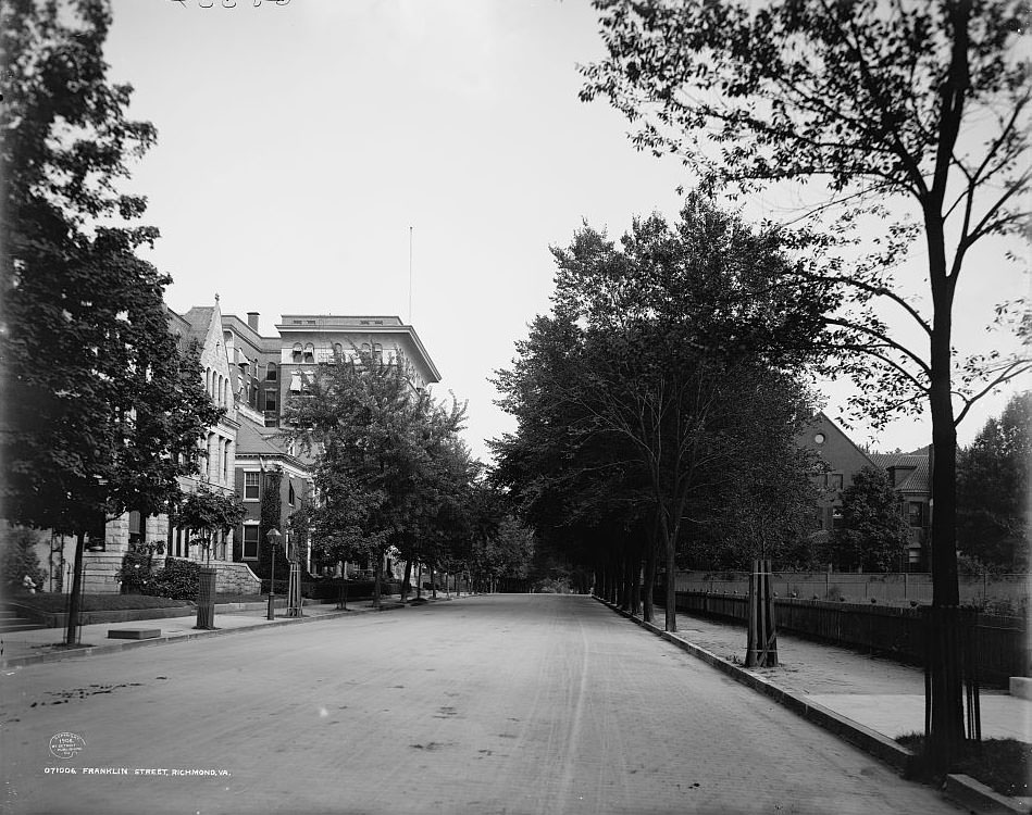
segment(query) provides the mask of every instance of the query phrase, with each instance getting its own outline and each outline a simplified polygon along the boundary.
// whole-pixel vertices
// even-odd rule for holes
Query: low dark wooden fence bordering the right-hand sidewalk
[[[657,593],[658,598],[662,593]],[[745,624],[747,598],[702,591],[676,592],[677,611],[733,619]],[[902,662],[921,665],[925,648],[925,612],[922,607],[825,600],[774,600],[779,630],[813,637],[847,648],[884,653]],[[977,615],[978,670],[986,685],[1006,686],[1011,676],[1032,675],[1032,649],[1022,617]]]

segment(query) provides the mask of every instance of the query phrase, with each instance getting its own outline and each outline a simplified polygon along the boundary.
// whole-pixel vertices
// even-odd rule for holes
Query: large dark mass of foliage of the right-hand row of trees
[[[519,429],[494,446],[496,478],[546,543],[562,536],[582,563],[610,548],[632,586],[658,552],[672,574],[711,517],[702,496],[729,498],[762,444],[791,447],[825,298],[784,249],[693,195],[672,226],[637,220],[619,247],[585,227],[554,250],[552,313],[497,379]]]

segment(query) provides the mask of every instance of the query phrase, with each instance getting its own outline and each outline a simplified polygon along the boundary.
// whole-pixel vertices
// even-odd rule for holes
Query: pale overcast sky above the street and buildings
[[[115,0],[110,77],[158,146],[132,189],[162,238],[148,256],[178,312],[386,314],[411,322],[469,400],[465,438],[513,428],[488,381],[548,310],[550,244],[587,221],[619,237],[634,215],[679,209],[692,178],[637,153],[604,102],[577,100],[577,63],[601,57],[586,0]],[[412,289],[410,289],[410,227]],[[968,303],[1028,283],[992,256]],[[991,347],[970,309],[967,347]],[[978,321],[981,325],[981,321]],[[1028,383],[1024,383],[1028,387]],[[828,388],[837,417],[845,388]],[[1006,396],[960,427],[969,441]],[[874,437],[930,441],[927,423]]]

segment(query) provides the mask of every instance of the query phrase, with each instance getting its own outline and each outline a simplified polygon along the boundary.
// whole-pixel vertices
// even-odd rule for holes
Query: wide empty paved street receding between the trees
[[[957,812],[585,597],[35,665],[0,692],[16,814]]]

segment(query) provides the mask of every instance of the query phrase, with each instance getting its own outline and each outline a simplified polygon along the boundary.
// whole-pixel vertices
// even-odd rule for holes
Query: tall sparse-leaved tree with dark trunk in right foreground
[[[953,331],[972,249],[1028,217],[1032,83],[1020,50],[1028,4],[597,0],[596,8],[608,54],[584,68],[582,98],[608,98],[623,111],[639,149],[681,155],[704,185],[732,193],[816,184],[825,192],[819,210],[845,208],[840,227],[878,225],[879,237],[861,246],[865,260],[818,273],[853,306],[829,318],[837,373],[854,376],[855,404],[874,418],[929,410],[933,605],[956,606],[956,424],[1030,367],[1022,354],[956,359]],[[912,283],[899,272],[911,248],[919,249]],[[922,285],[930,309],[909,297]],[[875,304],[909,326],[891,327]],[[1005,303],[999,309],[1006,314]],[[1016,327],[1028,333],[1028,319]],[[949,636],[954,626],[942,628]],[[932,660],[938,769],[962,738],[954,652],[944,644]]]

